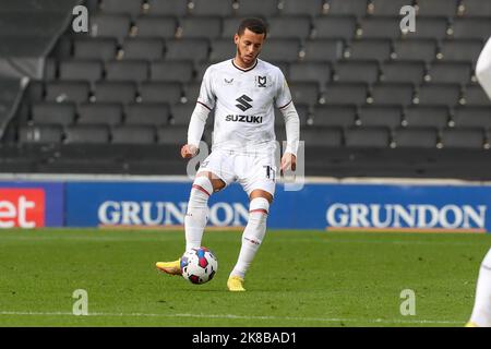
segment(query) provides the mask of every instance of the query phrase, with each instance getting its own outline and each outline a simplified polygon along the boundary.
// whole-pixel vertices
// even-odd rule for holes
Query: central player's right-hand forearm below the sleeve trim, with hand
[[[280,170],[284,171],[291,168],[291,170],[295,171],[297,168],[298,142],[300,140],[300,119],[294,101],[290,101],[287,106],[280,108],[279,110],[285,119],[287,135],[287,147],[282,157]]]

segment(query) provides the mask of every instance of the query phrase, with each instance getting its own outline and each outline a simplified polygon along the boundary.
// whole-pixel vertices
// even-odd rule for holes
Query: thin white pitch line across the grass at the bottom
[[[0,315],[21,316],[75,316],[70,312],[9,312],[1,311]],[[233,314],[148,314],[148,313],[88,313],[87,316],[100,317],[199,317],[199,318],[228,318],[228,320],[287,320],[300,322],[358,322],[372,324],[465,324],[465,321],[439,321],[439,320],[386,320],[386,318],[337,318],[337,317],[291,317],[291,316],[254,316]],[[79,316],[77,316],[79,317]]]

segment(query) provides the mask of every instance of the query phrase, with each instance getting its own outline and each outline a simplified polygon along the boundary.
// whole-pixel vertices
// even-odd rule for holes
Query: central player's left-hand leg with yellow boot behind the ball
[[[194,179],[184,217],[185,251],[201,246],[203,231],[208,219],[208,198],[214,191],[220,190],[225,183],[213,179],[211,172],[200,172]],[[172,262],[157,262],[159,270],[170,275],[181,275],[180,258]]]

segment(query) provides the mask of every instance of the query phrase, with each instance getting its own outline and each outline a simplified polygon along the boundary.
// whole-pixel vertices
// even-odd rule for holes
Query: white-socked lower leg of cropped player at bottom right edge
[[[491,327],[491,250],[481,263],[470,321],[479,327]]]

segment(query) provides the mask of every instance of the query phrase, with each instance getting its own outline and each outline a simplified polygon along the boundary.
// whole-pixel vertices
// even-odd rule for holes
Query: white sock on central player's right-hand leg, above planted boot
[[[266,233],[266,219],[270,212],[270,203],[264,197],[251,200],[249,205],[249,221],[243,230],[242,246],[230,276],[244,277],[252,260],[258,252]]]

